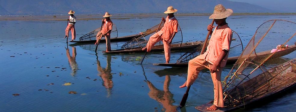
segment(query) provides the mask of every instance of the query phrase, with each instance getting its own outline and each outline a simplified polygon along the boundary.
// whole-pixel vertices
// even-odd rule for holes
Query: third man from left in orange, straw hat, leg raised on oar
[[[159,32],[156,32],[153,34],[149,41],[147,42],[146,47],[142,48],[142,50],[147,50],[147,52],[150,52],[152,47],[159,41],[162,40],[163,48],[165,51],[165,63],[170,62],[171,58],[171,43],[175,36],[175,34],[178,32],[178,20],[175,18],[174,13],[177,12],[177,9],[174,9],[173,6],[169,6],[167,11],[165,11],[165,14],[168,14],[166,19],[162,17],[162,21],[165,22],[164,26]]]

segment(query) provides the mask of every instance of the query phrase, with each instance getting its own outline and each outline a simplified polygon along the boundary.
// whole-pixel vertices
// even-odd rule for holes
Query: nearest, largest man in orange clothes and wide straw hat
[[[213,14],[209,19],[214,19],[217,27],[208,25],[207,30],[211,32],[205,53],[196,56],[188,63],[187,81],[180,88],[188,87],[198,77],[203,69],[209,69],[214,84],[214,102],[208,110],[217,110],[217,107],[224,107],[223,90],[221,84],[222,68],[226,65],[229,54],[232,31],[226,23],[226,18],[233,13],[231,9],[225,9],[223,5],[216,5]],[[214,28],[214,31],[212,31]]]

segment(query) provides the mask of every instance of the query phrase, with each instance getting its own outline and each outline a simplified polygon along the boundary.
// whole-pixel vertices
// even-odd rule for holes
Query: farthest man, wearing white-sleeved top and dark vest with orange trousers
[[[70,10],[68,12],[68,14],[70,14],[70,16],[68,19],[69,23],[66,28],[66,36],[65,36],[65,38],[68,38],[69,37],[69,30],[71,30],[71,33],[72,33],[72,40],[71,41],[75,40],[75,38],[76,38],[76,31],[75,31],[76,17],[74,16],[74,13],[75,12],[72,10]]]

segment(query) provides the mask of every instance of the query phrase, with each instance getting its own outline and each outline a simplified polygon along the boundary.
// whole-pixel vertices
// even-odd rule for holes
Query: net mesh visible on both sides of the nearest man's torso
[[[177,63],[188,63],[189,60],[195,58],[200,54],[200,51],[202,50],[202,44],[205,41],[202,41],[200,43],[201,45],[199,47],[195,47],[192,50],[187,51],[184,53],[178,60]],[[207,43],[208,44],[208,43]],[[230,44],[230,52],[228,57],[236,57],[239,56],[239,54],[242,53],[243,50],[242,40],[240,39],[239,35],[232,30],[232,41]],[[232,52],[235,51],[235,52]]]

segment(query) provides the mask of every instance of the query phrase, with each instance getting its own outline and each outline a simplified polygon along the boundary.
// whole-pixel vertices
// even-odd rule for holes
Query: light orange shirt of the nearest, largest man
[[[227,62],[231,40],[232,31],[229,28],[228,24],[219,26],[219,28],[217,26],[211,35],[207,51],[203,54],[205,55],[205,61],[214,64],[217,61],[222,50],[227,50],[227,55],[220,63],[220,67],[224,67]]]

